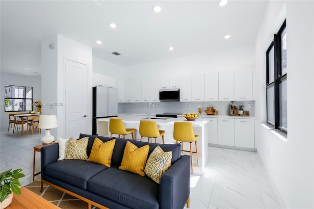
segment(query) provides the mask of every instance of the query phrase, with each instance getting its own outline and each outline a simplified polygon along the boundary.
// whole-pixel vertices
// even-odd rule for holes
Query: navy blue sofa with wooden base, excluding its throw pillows
[[[112,138],[88,136],[87,155],[90,155],[94,139],[103,142]],[[129,140],[137,147],[150,145],[149,154],[159,145],[165,152],[172,151],[170,168],[162,175],[160,184],[147,176],[119,170],[124,148],[129,139],[116,138],[111,167],[87,160],[57,160],[58,144],[41,148],[41,191],[47,183],[88,203],[109,209],[183,209],[189,205],[190,157],[181,156],[180,144],[154,144]],[[105,206],[105,207],[104,207]]]

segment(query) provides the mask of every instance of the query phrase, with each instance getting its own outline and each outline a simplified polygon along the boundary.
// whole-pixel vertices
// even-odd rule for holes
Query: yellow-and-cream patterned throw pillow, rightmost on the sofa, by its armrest
[[[160,183],[161,175],[168,170],[171,165],[172,152],[163,152],[157,146],[151,155],[148,157],[145,174],[154,182]]]

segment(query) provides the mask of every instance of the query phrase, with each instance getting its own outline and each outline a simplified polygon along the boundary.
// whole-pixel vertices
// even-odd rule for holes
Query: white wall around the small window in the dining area
[[[17,85],[17,86],[30,86],[33,87],[33,101],[41,101],[41,78],[39,77],[28,77],[18,76],[13,74],[0,74],[1,83],[1,104],[4,104],[4,85]],[[4,106],[1,105],[0,109],[1,128],[8,126],[10,112],[4,112]]]

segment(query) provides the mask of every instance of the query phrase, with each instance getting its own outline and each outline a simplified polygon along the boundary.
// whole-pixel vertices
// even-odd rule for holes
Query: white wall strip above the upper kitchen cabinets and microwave
[[[162,78],[253,68],[254,47],[248,46],[125,67],[125,78]]]

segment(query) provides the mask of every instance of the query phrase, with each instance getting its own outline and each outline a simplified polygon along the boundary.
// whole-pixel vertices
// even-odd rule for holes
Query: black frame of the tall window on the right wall
[[[283,25],[280,27],[277,34],[274,34],[274,39],[271,42],[270,46],[266,51],[266,123],[270,126],[274,127],[274,129],[278,129],[284,133],[288,133],[288,128],[280,127],[280,94],[279,94],[279,84],[287,79],[287,73],[283,74],[282,72],[282,42],[281,35],[283,31],[286,29],[286,20]],[[272,47],[274,47],[274,81],[269,82],[269,52]],[[267,101],[267,88],[269,86],[274,85],[274,116],[275,123],[272,123],[268,120],[268,101]]]

